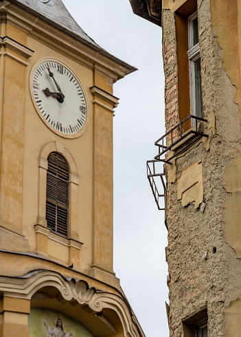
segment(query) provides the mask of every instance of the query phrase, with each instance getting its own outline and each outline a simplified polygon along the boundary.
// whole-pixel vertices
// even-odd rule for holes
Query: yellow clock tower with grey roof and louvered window
[[[0,336],[144,336],[113,272],[108,54],[61,0],[0,0]]]

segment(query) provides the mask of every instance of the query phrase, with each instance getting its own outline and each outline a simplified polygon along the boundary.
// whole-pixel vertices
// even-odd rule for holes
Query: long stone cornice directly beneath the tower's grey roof
[[[108,75],[113,82],[137,70],[126,62],[108,54],[104,49],[88,45],[77,39],[76,36],[70,36],[67,32],[58,30],[58,28],[49,25],[49,23],[36,18],[30,12],[16,7],[13,3],[8,5],[8,12],[4,14],[7,16],[8,23],[21,28],[29,36],[38,39],[45,45],[76,60],[76,62],[85,67],[89,67],[91,70],[96,66],[99,67],[100,71],[104,75]]]

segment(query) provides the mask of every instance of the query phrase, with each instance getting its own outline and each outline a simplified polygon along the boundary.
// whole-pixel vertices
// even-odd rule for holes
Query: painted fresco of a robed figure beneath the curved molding
[[[54,310],[32,308],[30,337],[93,337],[78,321]]]

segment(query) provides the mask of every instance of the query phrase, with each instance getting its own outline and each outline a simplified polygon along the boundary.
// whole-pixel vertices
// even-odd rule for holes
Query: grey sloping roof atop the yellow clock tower
[[[28,12],[38,16],[41,20],[49,23],[58,30],[65,32],[69,36],[76,38],[84,45],[88,45],[91,49],[99,51],[100,54],[110,58],[111,60],[119,63],[123,67],[129,69],[129,73],[135,71],[136,68],[128,65],[126,62],[115,58],[109,54],[102,47],[97,45],[95,41],[90,38],[82,28],[76,23],[71,14],[61,0],[9,0],[10,2],[24,8]]]

